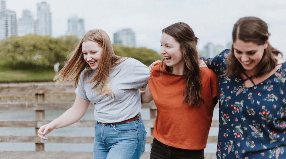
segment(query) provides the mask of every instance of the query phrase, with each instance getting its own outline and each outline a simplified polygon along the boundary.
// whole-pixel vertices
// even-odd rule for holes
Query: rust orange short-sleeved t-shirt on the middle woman
[[[200,68],[204,105],[189,107],[183,103],[186,77],[170,74],[165,68],[161,76],[154,66],[148,87],[157,107],[153,136],[168,146],[200,150],[206,148],[208,132],[219,93],[218,77],[208,68]]]

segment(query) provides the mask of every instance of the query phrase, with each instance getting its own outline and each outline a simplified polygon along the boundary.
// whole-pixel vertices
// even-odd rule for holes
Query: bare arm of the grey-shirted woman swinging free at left
[[[39,128],[38,136],[43,140],[46,140],[47,138],[44,136],[53,131],[53,129],[59,129],[76,123],[84,116],[89,104],[89,101],[76,96],[74,105],[71,108],[67,109],[67,111],[65,111],[57,119],[51,121],[51,123],[43,125]]]

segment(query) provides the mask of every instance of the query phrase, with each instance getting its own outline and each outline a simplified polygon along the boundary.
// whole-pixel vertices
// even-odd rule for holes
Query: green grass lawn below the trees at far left
[[[0,66],[0,82],[52,81],[54,77],[53,68],[13,70]]]

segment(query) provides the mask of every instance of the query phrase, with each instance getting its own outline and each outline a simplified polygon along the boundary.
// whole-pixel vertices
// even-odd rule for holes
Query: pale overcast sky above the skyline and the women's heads
[[[6,0],[6,8],[21,18],[23,9],[36,17],[41,0]],[[191,26],[199,38],[198,49],[212,42],[226,47],[234,23],[245,16],[256,16],[269,25],[269,42],[286,56],[285,0],[46,0],[52,14],[52,36],[67,32],[67,19],[83,18],[85,30],[105,30],[113,42],[113,33],[131,28],[137,47],[160,50],[162,28],[176,22]],[[284,58],[286,58],[284,56]]]

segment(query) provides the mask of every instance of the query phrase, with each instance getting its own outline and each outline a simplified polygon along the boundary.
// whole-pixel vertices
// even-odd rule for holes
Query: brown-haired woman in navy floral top
[[[286,158],[286,62],[269,35],[264,21],[243,17],[231,50],[202,58],[219,75],[217,158]]]

